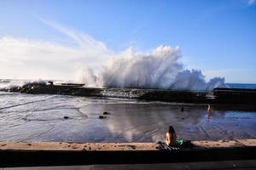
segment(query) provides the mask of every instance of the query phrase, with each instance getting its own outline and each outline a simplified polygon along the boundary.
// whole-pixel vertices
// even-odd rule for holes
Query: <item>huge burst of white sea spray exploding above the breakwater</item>
[[[224,78],[214,77],[206,82],[198,70],[184,70],[179,48],[160,46],[150,54],[129,53],[109,59],[102,64],[96,77],[85,66],[79,82],[85,86],[107,88],[159,88],[173,90],[206,90],[226,87]]]

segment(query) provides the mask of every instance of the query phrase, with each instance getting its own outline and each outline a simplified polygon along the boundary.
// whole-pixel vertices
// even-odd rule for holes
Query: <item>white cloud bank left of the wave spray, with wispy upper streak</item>
[[[110,57],[103,42],[54,22],[44,23],[70,37],[77,45],[0,37],[0,78],[73,79],[84,63],[96,69],[102,59]]]

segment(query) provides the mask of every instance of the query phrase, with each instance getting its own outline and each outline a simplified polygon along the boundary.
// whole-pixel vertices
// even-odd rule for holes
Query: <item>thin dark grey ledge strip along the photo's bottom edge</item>
[[[57,166],[57,167],[9,167],[0,170],[117,170],[117,169],[255,169],[256,160],[243,161],[201,161],[182,163],[159,163],[159,164],[115,164],[115,165],[85,165],[85,166]]]

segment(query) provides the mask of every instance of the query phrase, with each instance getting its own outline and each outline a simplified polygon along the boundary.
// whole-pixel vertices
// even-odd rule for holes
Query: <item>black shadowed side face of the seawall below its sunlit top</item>
[[[256,147],[194,150],[0,150],[0,167],[255,160]]]

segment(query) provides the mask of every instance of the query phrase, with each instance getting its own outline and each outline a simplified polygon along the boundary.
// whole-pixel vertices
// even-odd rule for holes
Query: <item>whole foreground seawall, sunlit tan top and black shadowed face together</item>
[[[0,167],[144,164],[255,160],[256,139],[194,141],[195,147],[159,150],[156,143],[0,143]]]

